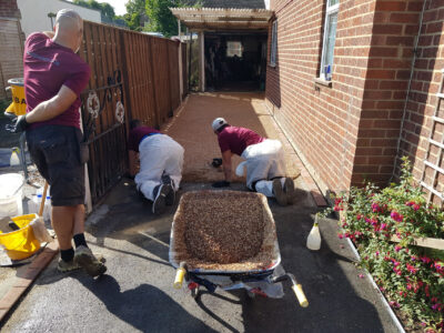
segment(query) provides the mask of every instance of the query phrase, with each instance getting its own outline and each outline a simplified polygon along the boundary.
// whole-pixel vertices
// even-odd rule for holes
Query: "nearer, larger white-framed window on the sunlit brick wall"
[[[337,11],[340,8],[339,0],[327,0],[325,24],[324,24],[324,41],[322,44],[321,57],[321,79],[330,81],[333,70],[333,50],[336,39]]]

